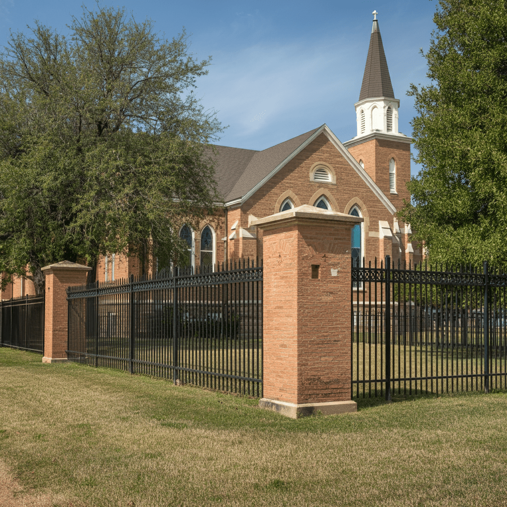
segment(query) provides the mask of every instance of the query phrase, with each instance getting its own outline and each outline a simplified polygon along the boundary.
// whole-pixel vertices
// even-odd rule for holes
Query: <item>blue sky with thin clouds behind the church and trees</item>
[[[0,46],[9,30],[25,31],[38,19],[64,34],[82,2],[0,0]],[[96,4],[84,3],[89,9]],[[219,3],[143,0],[104,2],[125,6],[137,21],[151,18],[172,38],[183,27],[198,59],[212,56],[209,74],[196,93],[229,125],[219,144],[262,150],[326,123],[341,141],[356,135],[359,97],[370,41],[372,12],[378,14],[392,86],[400,99],[399,128],[411,135],[415,116],[410,83],[427,83],[427,51],[437,2],[370,1]],[[419,170],[412,163],[412,174]]]

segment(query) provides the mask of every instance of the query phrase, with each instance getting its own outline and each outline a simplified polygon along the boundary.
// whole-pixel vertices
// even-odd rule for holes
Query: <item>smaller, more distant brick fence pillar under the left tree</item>
[[[42,268],[46,276],[44,314],[43,363],[61,363],[67,360],[67,294],[69,285],[86,283],[86,273],[92,268],[63,261]]]

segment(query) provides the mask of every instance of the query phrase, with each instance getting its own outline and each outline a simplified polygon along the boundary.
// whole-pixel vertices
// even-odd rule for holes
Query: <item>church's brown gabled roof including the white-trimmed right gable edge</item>
[[[352,169],[389,212],[394,214],[396,208],[325,123],[262,151],[215,146],[215,178],[226,205],[244,203],[320,134],[328,137]]]

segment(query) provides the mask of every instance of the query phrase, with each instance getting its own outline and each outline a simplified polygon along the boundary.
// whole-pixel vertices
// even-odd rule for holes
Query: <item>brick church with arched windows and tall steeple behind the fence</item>
[[[188,264],[213,269],[225,260],[262,259],[262,232],[251,223],[301,205],[363,217],[351,234],[355,262],[390,255],[393,262],[419,262],[410,227],[395,213],[410,195],[411,138],[398,131],[400,100],[394,98],[376,19],[370,36],[363,84],[354,104],[357,135],[342,142],[327,125],[262,151],[216,146],[215,177],[223,198],[219,219],[199,230],[184,226]],[[97,280],[152,275],[156,260],[107,256]],[[29,280],[16,279],[0,297],[33,294]]]

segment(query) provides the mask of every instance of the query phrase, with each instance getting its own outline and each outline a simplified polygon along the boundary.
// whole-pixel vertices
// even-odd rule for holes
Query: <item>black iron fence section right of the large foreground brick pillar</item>
[[[352,396],[505,388],[507,275],[352,267]]]

